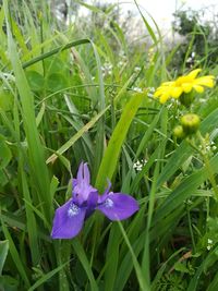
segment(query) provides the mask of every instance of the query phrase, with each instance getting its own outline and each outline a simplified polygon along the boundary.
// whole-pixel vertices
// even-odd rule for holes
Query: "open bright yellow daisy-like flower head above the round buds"
[[[187,75],[180,76],[175,81],[162,83],[155,92],[154,97],[159,98],[161,104],[165,104],[170,98],[179,98],[183,93],[187,94],[192,89],[197,93],[203,93],[204,87],[214,87],[215,76],[206,75],[196,77],[201,72],[196,69]]]

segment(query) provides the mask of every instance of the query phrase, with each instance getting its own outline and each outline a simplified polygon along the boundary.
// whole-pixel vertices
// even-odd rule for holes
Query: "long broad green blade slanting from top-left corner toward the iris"
[[[8,15],[8,2],[3,1],[5,15]],[[33,177],[35,177],[35,183],[38,194],[39,202],[44,202],[41,205],[44,209],[44,215],[47,217],[48,221],[51,219],[51,198],[49,193],[49,178],[48,171],[45,163],[44,149],[39,140],[39,134],[36,126],[34,98],[29,89],[25,73],[22,69],[21,61],[16,51],[15,43],[12,38],[10,25],[7,21],[8,31],[8,46],[9,56],[12,62],[12,68],[14,71],[16,87],[21,96],[22,113],[24,128],[26,133],[26,140],[28,144],[28,155],[29,163],[32,167]]]

